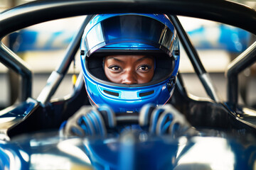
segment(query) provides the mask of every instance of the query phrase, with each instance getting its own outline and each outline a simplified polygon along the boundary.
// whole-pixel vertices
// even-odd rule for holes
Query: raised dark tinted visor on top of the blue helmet
[[[173,33],[163,23],[146,16],[123,15],[97,23],[85,36],[85,54],[101,47],[125,50],[155,47],[171,51]],[[127,42],[127,43],[126,43]]]

